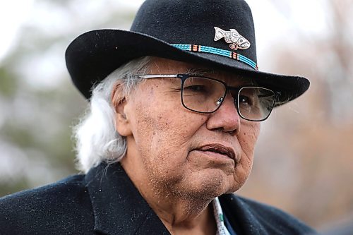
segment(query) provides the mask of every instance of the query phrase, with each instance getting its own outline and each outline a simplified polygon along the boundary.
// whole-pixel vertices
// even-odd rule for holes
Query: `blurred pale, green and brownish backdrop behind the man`
[[[263,123],[238,193],[319,230],[353,222],[353,1],[247,1],[260,69],[306,76],[311,88]],[[78,172],[71,127],[87,102],[65,49],[88,30],[128,29],[141,3],[0,2],[0,196]]]

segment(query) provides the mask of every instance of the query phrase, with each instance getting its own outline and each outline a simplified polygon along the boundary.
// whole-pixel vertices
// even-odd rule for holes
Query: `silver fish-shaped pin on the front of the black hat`
[[[222,37],[225,38],[225,42],[232,43],[229,45],[231,49],[248,49],[250,42],[245,37],[241,36],[237,30],[233,28],[230,31],[222,30],[221,28],[215,27],[215,41],[220,40]]]

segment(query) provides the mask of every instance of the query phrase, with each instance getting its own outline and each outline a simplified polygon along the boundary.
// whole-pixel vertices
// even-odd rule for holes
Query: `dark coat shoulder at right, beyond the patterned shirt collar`
[[[276,207],[234,194],[222,195],[220,200],[227,217],[234,217],[229,220],[240,221],[243,230],[258,231],[253,234],[315,234],[304,222]]]

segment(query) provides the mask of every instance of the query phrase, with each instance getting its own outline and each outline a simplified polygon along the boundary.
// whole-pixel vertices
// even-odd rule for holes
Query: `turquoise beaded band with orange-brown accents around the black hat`
[[[189,51],[189,52],[205,52],[205,53],[210,53],[210,54],[217,54],[219,56],[225,56],[229,57],[231,59],[235,59],[237,61],[241,61],[249,66],[251,68],[254,68],[258,70],[258,65],[249,59],[246,56],[243,56],[239,53],[236,52],[231,52],[225,49],[219,49],[215,47],[207,47],[207,46],[202,46],[202,45],[196,45],[196,44],[172,44],[173,47],[177,47],[178,49],[184,50],[184,51]]]

